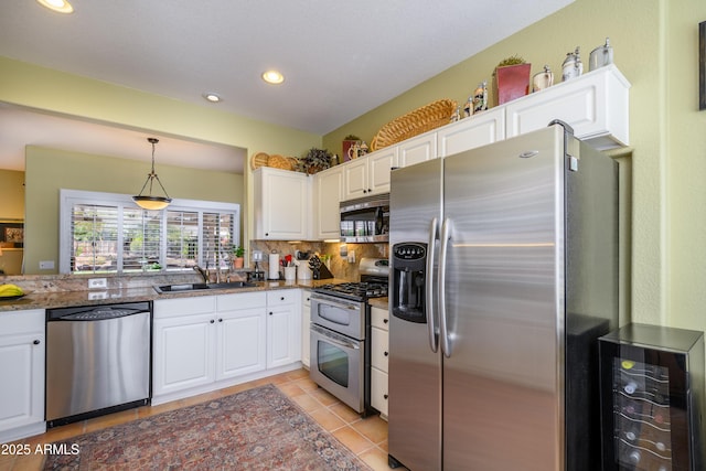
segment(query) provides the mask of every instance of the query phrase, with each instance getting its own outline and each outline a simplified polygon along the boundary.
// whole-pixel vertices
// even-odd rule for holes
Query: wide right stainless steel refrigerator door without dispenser
[[[558,126],[445,160],[445,470],[564,467],[563,162]]]

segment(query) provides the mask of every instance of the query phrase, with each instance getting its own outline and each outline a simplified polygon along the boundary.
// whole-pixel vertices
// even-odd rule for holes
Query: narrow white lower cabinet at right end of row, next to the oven
[[[267,367],[301,360],[301,290],[267,292]]]

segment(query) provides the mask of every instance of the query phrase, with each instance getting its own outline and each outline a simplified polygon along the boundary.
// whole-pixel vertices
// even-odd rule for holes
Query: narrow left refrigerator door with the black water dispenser
[[[438,159],[393,171],[391,247],[411,243],[426,247],[427,256],[435,253],[429,228],[432,220],[441,217],[441,164]],[[400,289],[394,281],[400,267],[393,256],[391,260],[391,290]],[[389,299],[407,297],[393,292]],[[438,350],[431,350],[428,320],[389,317],[388,387],[389,456],[410,470],[440,470],[441,358]]]

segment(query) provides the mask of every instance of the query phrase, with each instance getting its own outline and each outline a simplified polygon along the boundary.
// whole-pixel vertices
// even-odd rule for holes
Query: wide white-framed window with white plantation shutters
[[[129,195],[75,190],[60,200],[62,274],[225,267],[240,238],[238,204],[174,200],[146,211]]]

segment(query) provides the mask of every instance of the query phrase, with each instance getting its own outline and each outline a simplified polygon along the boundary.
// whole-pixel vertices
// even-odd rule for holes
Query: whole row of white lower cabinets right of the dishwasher
[[[152,404],[300,367],[300,293],[154,301]]]

